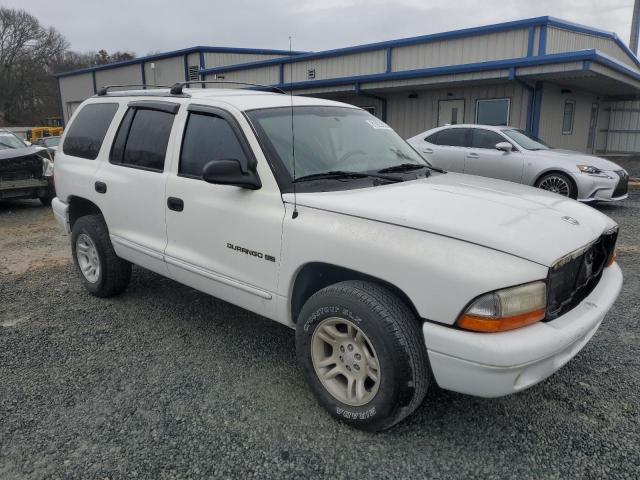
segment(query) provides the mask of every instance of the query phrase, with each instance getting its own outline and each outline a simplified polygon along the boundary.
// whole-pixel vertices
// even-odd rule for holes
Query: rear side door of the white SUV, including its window
[[[100,206],[116,253],[162,274],[167,273],[165,157],[179,107],[167,101],[130,102],[95,184],[105,197]]]

